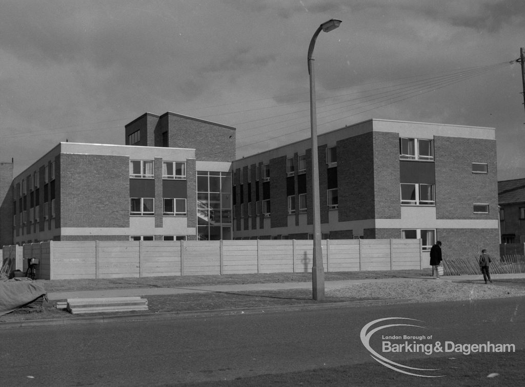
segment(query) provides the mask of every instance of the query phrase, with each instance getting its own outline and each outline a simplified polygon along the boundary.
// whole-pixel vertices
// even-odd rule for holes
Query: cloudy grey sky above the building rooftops
[[[0,5],[0,162],[15,176],[66,139],[124,144],[145,112],[235,126],[237,157],[308,138],[308,45],[337,18],[313,55],[319,133],[370,118],[495,127],[499,179],[525,177],[523,0]]]

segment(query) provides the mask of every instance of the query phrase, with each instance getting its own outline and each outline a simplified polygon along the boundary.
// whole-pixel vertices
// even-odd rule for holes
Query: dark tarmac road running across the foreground
[[[360,330],[384,317],[423,320],[437,340],[525,348],[525,298],[35,327],[0,331],[0,385],[157,385],[369,362]],[[421,334],[405,329],[385,334]],[[426,356],[392,359],[415,357]]]

